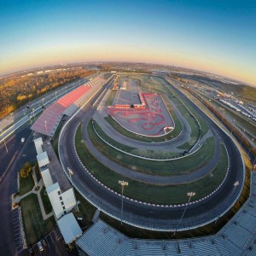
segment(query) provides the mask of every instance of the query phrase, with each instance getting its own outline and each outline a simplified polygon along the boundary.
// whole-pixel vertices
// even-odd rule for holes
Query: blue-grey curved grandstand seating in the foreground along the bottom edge
[[[256,172],[252,172],[249,199],[214,236],[175,241],[134,239],[98,219],[76,243],[82,253],[91,256],[256,255]]]

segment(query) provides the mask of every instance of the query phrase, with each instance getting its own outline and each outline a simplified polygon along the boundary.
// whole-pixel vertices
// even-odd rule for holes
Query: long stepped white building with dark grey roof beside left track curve
[[[73,187],[62,171],[61,164],[49,142],[43,143],[42,138],[34,140],[38,166],[44,181],[49,201],[56,218],[61,218],[76,206]]]

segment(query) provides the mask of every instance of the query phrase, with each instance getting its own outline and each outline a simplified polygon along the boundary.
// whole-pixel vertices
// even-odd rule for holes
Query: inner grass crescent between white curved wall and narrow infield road
[[[114,161],[119,166],[125,166],[137,172],[143,172],[151,175],[172,176],[193,172],[198,168],[205,166],[214,155],[214,138],[207,138],[203,146],[190,156],[183,159],[170,161],[154,161],[136,158],[129,154],[119,152],[117,149],[108,146],[100,140],[92,128],[91,122],[88,125],[88,134],[91,142],[108,159]]]

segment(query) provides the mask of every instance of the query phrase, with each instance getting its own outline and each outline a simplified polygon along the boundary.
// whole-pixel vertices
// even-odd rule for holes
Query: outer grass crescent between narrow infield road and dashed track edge
[[[180,185],[157,186],[154,184],[141,183],[128,177],[119,175],[116,172],[108,169],[101,162],[96,160],[82,140],[81,125],[75,137],[76,147],[80,160],[84,166],[102,183],[109,188],[121,193],[121,188],[118,181],[120,179],[129,183],[124,194],[138,201],[148,201],[158,204],[178,204],[184,203],[188,200],[185,191],[195,191],[195,200],[207,195],[212,190],[216,189],[219,183],[223,180],[225,175],[227,160],[224,148],[222,148],[221,159],[218,167],[212,171],[212,175],[208,174],[193,183],[186,183]]]

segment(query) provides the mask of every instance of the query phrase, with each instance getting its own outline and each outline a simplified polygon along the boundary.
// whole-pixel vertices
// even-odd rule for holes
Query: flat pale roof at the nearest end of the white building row
[[[64,215],[57,221],[61,234],[66,243],[71,243],[79,236],[82,236],[82,230],[73,216],[73,212]]]

